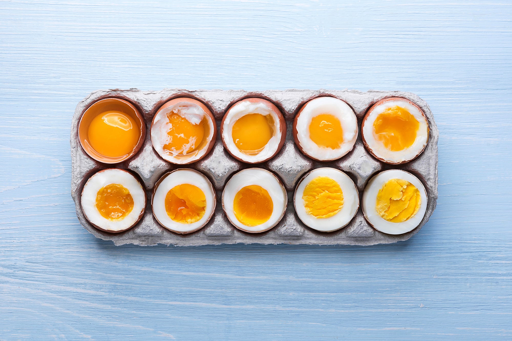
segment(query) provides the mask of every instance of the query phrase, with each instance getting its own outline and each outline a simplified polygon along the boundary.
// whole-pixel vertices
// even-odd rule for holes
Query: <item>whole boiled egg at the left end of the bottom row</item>
[[[139,180],[124,169],[103,169],[83,186],[83,214],[89,222],[106,232],[122,232],[142,218],[146,194]]]

